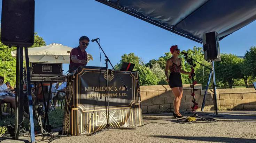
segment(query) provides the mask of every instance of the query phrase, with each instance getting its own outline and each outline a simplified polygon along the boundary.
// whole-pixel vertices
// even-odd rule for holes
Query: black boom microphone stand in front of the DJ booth
[[[117,71],[115,70],[114,66],[112,65],[112,63],[111,63],[110,60],[108,59],[108,56],[106,55],[106,53],[103,51],[102,47],[100,46],[100,44],[99,44],[99,42],[98,42],[98,39],[96,39],[95,41],[96,41],[96,43],[99,45],[101,51],[104,53],[105,58],[106,58],[106,59],[105,59],[105,62],[106,62],[106,72],[107,72],[107,94],[109,95],[109,88],[108,88],[108,79],[109,79],[109,78],[108,78],[108,76],[109,76],[108,62],[110,63],[110,65],[111,65],[112,68],[114,69],[114,71],[115,71],[115,73],[117,74],[118,78],[121,80],[121,82],[122,82],[122,84],[123,84],[125,90],[128,91],[127,86],[124,84],[123,80],[121,79],[121,77],[119,76],[119,74],[118,74]],[[105,99],[106,99],[106,97],[105,97]],[[106,130],[108,130],[108,129],[114,128],[114,127],[111,127],[111,126],[110,126],[110,123],[109,123],[109,122],[110,122],[110,118],[109,118],[109,97],[108,97],[108,96],[107,96],[107,105],[106,105],[106,106],[107,106],[107,107],[106,107],[106,109],[107,109],[107,110],[106,110],[106,114],[108,114],[108,116],[106,117],[106,118],[107,118],[107,125],[106,125],[106,127],[103,128],[103,129],[101,129],[101,130],[98,131],[98,132],[94,132],[94,133],[90,134],[90,136],[95,135],[95,134],[98,134],[98,133],[103,132],[103,131],[106,131]],[[120,128],[122,128],[122,127],[120,127]],[[122,128],[122,129],[135,129],[135,128]]]

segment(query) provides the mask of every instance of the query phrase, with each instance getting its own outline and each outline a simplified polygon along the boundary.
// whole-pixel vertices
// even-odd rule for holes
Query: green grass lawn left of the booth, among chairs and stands
[[[56,107],[56,111],[58,114],[56,114],[56,112],[53,110],[51,113],[48,113],[49,116],[49,123],[52,125],[52,128],[58,128],[62,126],[62,121],[63,121],[63,113],[64,113],[64,108],[62,106],[62,109],[59,107]],[[44,123],[44,119],[42,119],[42,122]],[[0,135],[2,135],[5,131],[6,131],[6,126],[9,124],[15,124],[15,113],[13,111],[13,117],[11,117],[11,115],[8,116],[3,116],[2,120],[0,120],[0,133],[1,133],[1,129],[2,133]],[[24,127],[28,130],[28,124],[29,123],[29,119],[25,118],[24,119]],[[40,130],[40,126],[38,124],[38,122],[36,120],[34,120],[34,125],[35,125],[35,130]]]

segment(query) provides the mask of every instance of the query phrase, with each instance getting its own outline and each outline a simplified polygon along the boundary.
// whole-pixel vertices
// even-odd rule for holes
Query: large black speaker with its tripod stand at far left
[[[15,140],[19,138],[20,122],[23,120],[23,47],[27,71],[27,93],[29,103],[30,138],[35,141],[33,105],[30,86],[28,47],[34,43],[34,0],[2,0],[1,42],[16,49],[16,97]],[[19,122],[20,121],[20,122]]]

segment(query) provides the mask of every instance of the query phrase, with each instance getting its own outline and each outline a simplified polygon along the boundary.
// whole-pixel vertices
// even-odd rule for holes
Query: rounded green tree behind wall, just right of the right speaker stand
[[[229,88],[232,88],[234,79],[241,78],[239,64],[241,58],[233,54],[221,54],[221,61],[215,62],[216,78],[227,82]]]

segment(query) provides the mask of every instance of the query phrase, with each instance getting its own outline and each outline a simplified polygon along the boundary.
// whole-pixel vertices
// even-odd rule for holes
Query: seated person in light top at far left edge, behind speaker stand
[[[8,87],[3,81],[4,77],[0,76],[0,100],[8,102],[15,109],[15,95],[8,91]]]

